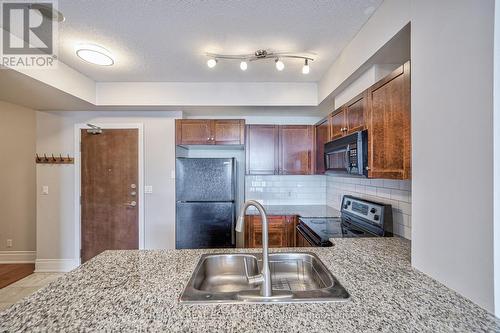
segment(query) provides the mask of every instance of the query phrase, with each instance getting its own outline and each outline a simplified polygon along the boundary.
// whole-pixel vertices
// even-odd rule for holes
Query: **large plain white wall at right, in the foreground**
[[[411,8],[412,264],[490,312],[494,0]]]

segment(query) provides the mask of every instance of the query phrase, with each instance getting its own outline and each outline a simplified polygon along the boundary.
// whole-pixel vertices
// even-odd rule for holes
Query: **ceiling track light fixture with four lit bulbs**
[[[304,55],[300,53],[291,52],[273,52],[268,50],[257,50],[253,54],[217,54],[217,53],[206,53],[208,57],[207,66],[209,68],[215,67],[218,61],[224,60],[238,60],[240,61],[240,69],[246,71],[248,68],[248,63],[252,61],[259,60],[274,60],[276,69],[278,71],[283,71],[285,69],[285,63],[283,59],[300,59],[304,61],[304,66],[302,67],[302,74],[306,75],[310,72],[309,61],[314,61],[314,58],[309,55]]]

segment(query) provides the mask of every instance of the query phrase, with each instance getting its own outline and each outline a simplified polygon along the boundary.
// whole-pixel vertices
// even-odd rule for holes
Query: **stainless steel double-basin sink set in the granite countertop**
[[[309,303],[345,301],[349,293],[314,253],[270,253],[272,296],[261,297],[248,277],[259,274],[257,253],[205,254],[180,297],[181,303]]]

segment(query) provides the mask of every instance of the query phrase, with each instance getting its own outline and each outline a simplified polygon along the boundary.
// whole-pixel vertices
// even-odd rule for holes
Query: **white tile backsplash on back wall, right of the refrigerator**
[[[325,176],[246,176],[245,200],[264,205],[324,205]]]

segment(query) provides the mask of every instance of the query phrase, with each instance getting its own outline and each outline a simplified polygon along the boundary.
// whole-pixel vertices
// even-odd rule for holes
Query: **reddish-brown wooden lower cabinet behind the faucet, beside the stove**
[[[269,247],[294,247],[296,240],[296,216],[270,215]],[[245,247],[262,247],[262,220],[258,215],[245,216]]]

